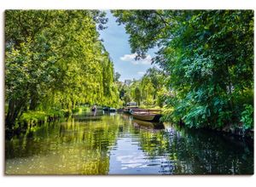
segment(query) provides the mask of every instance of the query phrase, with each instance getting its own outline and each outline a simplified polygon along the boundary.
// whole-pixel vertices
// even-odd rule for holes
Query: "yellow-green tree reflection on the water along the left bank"
[[[119,129],[115,120],[70,119],[42,127],[31,138],[13,139],[6,143],[6,173],[107,174],[108,150]]]

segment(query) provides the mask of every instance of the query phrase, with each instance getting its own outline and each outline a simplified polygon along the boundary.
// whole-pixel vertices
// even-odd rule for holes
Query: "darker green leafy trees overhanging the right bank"
[[[166,71],[166,120],[189,127],[253,127],[253,11],[115,10],[131,52]]]

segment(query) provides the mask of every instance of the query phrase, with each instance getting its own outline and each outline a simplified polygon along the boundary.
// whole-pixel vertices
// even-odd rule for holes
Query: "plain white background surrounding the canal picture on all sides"
[[[4,10],[5,9],[254,9],[255,0],[0,0],[0,185],[1,186],[255,186],[255,176],[4,176]],[[255,21],[254,21],[255,28]],[[254,39],[255,42],[255,39]],[[255,53],[254,53],[255,54]],[[255,80],[255,79],[254,79]],[[254,87],[255,88],[255,87]],[[254,101],[255,102],[255,101]],[[254,114],[255,115],[255,114]],[[255,116],[254,116],[255,119]],[[254,140],[255,141],[255,140]],[[255,158],[255,154],[254,154]],[[255,160],[255,159],[254,159]]]

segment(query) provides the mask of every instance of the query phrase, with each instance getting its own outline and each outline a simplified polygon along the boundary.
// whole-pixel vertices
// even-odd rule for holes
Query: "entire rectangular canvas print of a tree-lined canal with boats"
[[[5,175],[253,174],[253,10],[6,10]]]

